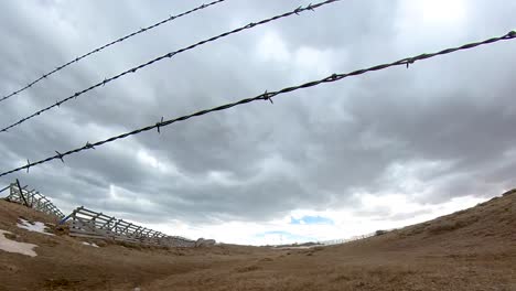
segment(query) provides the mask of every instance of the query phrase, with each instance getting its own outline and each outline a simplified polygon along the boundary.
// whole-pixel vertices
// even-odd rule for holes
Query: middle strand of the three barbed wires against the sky
[[[93,90],[93,89],[95,89],[95,88],[97,88],[97,87],[104,86],[104,85],[108,84],[109,82],[112,82],[112,80],[115,80],[115,79],[118,79],[119,77],[122,77],[122,76],[125,76],[125,75],[127,75],[127,74],[136,73],[138,69],[143,68],[143,67],[149,66],[149,65],[152,65],[152,64],[155,63],[155,62],[162,61],[162,60],[164,60],[164,58],[171,58],[172,56],[174,56],[174,55],[176,55],[176,54],[180,54],[180,53],[183,53],[183,52],[185,52],[185,51],[192,50],[192,48],[197,47],[197,46],[200,46],[200,45],[203,45],[203,44],[205,44],[205,43],[214,42],[214,41],[216,41],[216,40],[218,40],[218,39],[222,39],[222,37],[225,37],[225,36],[228,36],[228,35],[235,34],[235,33],[238,33],[238,32],[240,32],[240,31],[249,30],[249,29],[252,29],[252,28],[255,28],[255,26],[262,25],[262,24],[269,23],[269,22],[271,22],[271,21],[279,20],[279,19],[282,19],[282,18],[287,18],[287,17],[291,17],[291,15],[294,15],[294,14],[298,15],[299,13],[304,12],[304,11],[314,11],[315,9],[318,9],[318,8],[320,8],[320,7],[323,7],[323,6],[326,6],[326,4],[330,4],[330,3],[334,3],[334,2],[337,2],[337,1],[342,1],[342,0],[326,0],[326,1],[322,1],[322,2],[315,3],[315,4],[309,4],[309,6],[307,6],[307,7],[299,7],[299,8],[294,9],[294,10],[292,10],[292,11],[290,11],[290,12],[286,12],[286,13],[282,13],[282,14],[279,14],[279,15],[276,15],[276,17],[272,17],[272,18],[269,18],[269,19],[265,19],[265,20],[261,20],[261,21],[258,21],[258,22],[251,22],[251,23],[249,23],[249,24],[247,24],[247,25],[244,25],[244,26],[240,26],[240,28],[238,28],[238,29],[235,29],[235,30],[232,30],[232,31],[228,31],[228,32],[218,34],[217,36],[209,37],[209,39],[207,39],[207,40],[197,42],[197,43],[195,43],[195,44],[189,45],[189,46],[186,46],[186,47],[180,48],[180,50],[174,51],[174,52],[171,52],[171,53],[166,53],[166,54],[161,55],[161,56],[159,56],[159,57],[157,57],[157,58],[153,58],[153,60],[151,60],[151,61],[149,61],[149,62],[147,62],[147,63],[143,63],[143,64],[141,64],[141,65],[138,65],[138,66],[136,66],[136,67],[132,67],[132,68],[130,68],[130,69],[127,69],[127,71],[125,71],[125,72],[122,72],[122,73],[120,73],[120,74],[118,74],[118,75],[115,75],[115,76],[109,77],[109,78],[105,78],[103,82],[99,82],[99,83],[97,83],[97,84],[95,84],[95,85],[93,85],[93,86],[90,86],[90,87],[88,87],[88,88],[86,88],[86,89],[84,89],[84,90],[76,91],[75,94],[73,94],[73,95],[71,95],[71,96],[68,96],[68,97],[66,97],[66,98],[64,98],[64,99],[61,99],[61,100],[56,101],[54,105],[51,105],[51,106],[45,107],[45,108],[43,108],[43,109],[41,109],[41,110],[37,110],[37,111],[35,111],[34,114],[32,114],[32,115],[30,115],[30,116],[28,116],[28,117],[24,117],[24,118],[20,119],[19,121],[17,121],[17,122],[14,122],[14,123],[12,123],[12,125],[10,125],[10,126],[8,126],[8,127],[1,129],[0,132],[7,132],[9,129],[11,129],[11,128],[13,128],[13,127],[15,127],[15,126],[19,126],[19,125],[25,122],[26,120],[32,119],[32,118],[34,118],[34,117],[36,117],[36,116],[39,116],[39,115],[41,115],[41,114],[43,114],[43,112],[45,112],[45,111],[52,109],[52,108],[54,108],[54,107],[60,107],[62,104],[64,104],[64,103],[66,103],[66,101],[69,101],[69,100],[72,100],[72,99],[75,99],[75,98],[77,98],[78,96],[80,96],[80,95],[83,95],[83,94],[85,94],[85,93],[87,93],[87,91],[89,91],[89,90]]]

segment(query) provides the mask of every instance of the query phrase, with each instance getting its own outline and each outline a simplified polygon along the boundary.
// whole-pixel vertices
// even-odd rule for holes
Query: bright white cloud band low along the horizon
[[[159,229],[166,234],[181,235],[190,238],[209,237],[217,241],[244,245],[279,245],[307,241],[324,241],[332,239],[346,239],[354,236],[366,235],[378,229],[393,229],[407,225],[422,223],[442,215],[472,207],[483,198],[464,196],[452,198],[447,203],[424,205],[408,201],[404,195],[373,195],[359,196],[365,207],[359,209],[373,211],[370,215],[362,216],[350,208],[312,211],[295,209],[282,219],[266,223],[227,222],[216,225],[187,225],[180,222],[169,224],[147,224],[148,227]],[[381,219],[374,214],[378,206],[386,206],[389,215]],[[422,212],[424,211],[424,212]],[[418,213],[421,212],[421,213]],[[400,214],[408,215],[404,219],[390,218],[389,216]],[[291,217],[321,216],[332,219],[334,224],[290,224]]]

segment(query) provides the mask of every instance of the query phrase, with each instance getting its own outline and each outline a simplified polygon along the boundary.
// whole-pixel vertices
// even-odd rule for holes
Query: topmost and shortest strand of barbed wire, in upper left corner
[[[41,80],[43,80],[43,79],[46,79],[49,76],[51,76],[51,75],[53,75],[53,74],[60,72],[61,69],[63,69],[63,68],[65,68],[65,67],[72,65],[72,64],[74,64],[74,63],[77,63],[78,61],[80,61],[80,60],[83,60],[83,58],[85,58],[85,57],[88,57],[88,56],[90,56],[90,55],[93,55],[93,54],[96,54],[96,53],[98,53],[98,52],[100,52],[100,51],[103,51],[103,50],[105,50],[105,48],[107,48],[107,47],[109,47],[109,46],[111,46],[111,45],[114,45],[114,44],[116,44],[116,43],[123,42],[123,41],[127,40],[127,39],[130,39],[130,37],[132,37],[132,36],[135,36],[135,35],[138,35],[138,34],[140,34],[140,33],[143,33],[143,32],[146,32],[146,31],[155,29],[155,28],[158,28],[158,26],[160,26],[160,25],[162,25],[162,24],[165,24],[165,23],[168,23],[168,22],[170,22],[170,21],[172,21],[172,20],[175,20],[175,19],[181,18],[181,17],[185,17],[185,15],[187,15],[187,14],[190,14],[190,13],[196,12],[196,11],[198,11],[198,10],[202,10],[202,9],[205,9],[205,8],[208,8],[208,7],[212,7],[212,6],[214,6],[214,4],[217,4],[217,3],[224,2],[224,1],[226,1],[226,0],[216,0],[216,1],[213,1],[213,2],[211,2],[211,3],[202,4],[202,6],[200,6],[200,7],[196,7],[196,8],[194,8],[194,9],[191,9],[191,10],[185,11],[185,12],[183,12],[183,13],[180,13],[180,14],[176,14],[176,15],[170,15],[169,18],[166,18],[166,19],[164,19],[164,20],[162,20],[162,21],[160,21],[160,22],[157,22],[157,23],[154,23],[154,24],[152,24],[152,25],[150,25],[150,26],[142,28],[142,29],[140,29],[140,30],[138,30],[138,31],[135,31],[135,32],[132,32],[132,33],[129,33],[129,34],[127,34],[127,35],[125,35],[125,36],[122,36],[122,37],[120,37],[120,39],[118,39],[118,40],[115,40],[115,41],[112,41],[112,42],[110,42],[110,43],[107,43],[107,44],[105,44],[105,45],[103,45],[103,46],[99,46],[99,47],[97,47],[97,48],[95,48],[95,50],[93,50],[93,51],[90,51],[90,52],[88,52],[88,53],[86,53],[86,54],[84,54],[84,55],[82,55],[82,56],[77,56],[76,58],[69,61],[68,63],[66,63],[66,64],[64,64],[64,65],[61,65],[61,66],[54,68],[53,71],[49,72],[49,73],[43,74],[43,76],[41,76],[41,77],[36,78],[35,80],[29,83],[25,87],[22,87],[22,88],[15,90],[15,91],[12,91],[12,93],[9,94],[9,95],[3,96],[2,98],[0,98],[0,103],[3,101],[3,100],[9,99],[9,98],[11,98],[11,97],[13,97],[14,95],[20,94],[21,91],[24,91],[24,90],[29,89],[30,87],[34,86],[36,83],[39,83],[39,82],[41,82]]]

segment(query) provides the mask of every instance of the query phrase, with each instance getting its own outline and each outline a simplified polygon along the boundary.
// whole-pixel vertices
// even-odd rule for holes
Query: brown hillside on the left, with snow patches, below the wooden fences
[[[261,256],[258,248],[153,248],[49,236],[17,227],[19,217],[55,223],[53,217],[0,200],[0,229],[35,244],[36,257],[0,250],[0,290],[133,290],[144,282]],[[1,235],[0,235],[1,236]],[[251,254],[252,252],[252,254]]]

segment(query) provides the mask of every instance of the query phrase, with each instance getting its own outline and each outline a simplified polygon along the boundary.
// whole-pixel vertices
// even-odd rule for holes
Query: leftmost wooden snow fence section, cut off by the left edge
[[[57,208],[47,197],[42,195],[35,190],[26,190],[28,186],[20,186],[20,182],[11,183],[9,186],[4,187],[2,191],[9,188],[9,196],[6,197],[6,201],[23,204],[35,211],[57,216],[57,218],[63,218],[64,214]]]

